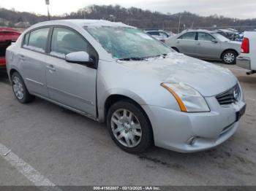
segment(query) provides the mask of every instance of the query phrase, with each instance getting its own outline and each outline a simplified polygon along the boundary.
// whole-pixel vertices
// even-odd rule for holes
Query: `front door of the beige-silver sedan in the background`
[[[211,34],[205,32],[198,32],[196,52],[200,58],[219,58],[221,44],[211,36]]]

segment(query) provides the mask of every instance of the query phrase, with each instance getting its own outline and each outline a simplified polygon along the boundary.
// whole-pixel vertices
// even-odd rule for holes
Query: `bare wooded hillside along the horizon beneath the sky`
[[[160,12],[151,12],[149,10],[131,7],[129,9],[121,6],[98,6],[92,5],[79,9],[78,12],[71,12],[61,16],[54,16],[52,19],[67,18],[87,18],[87,19],[106,19],[116,22],[127,23],[138,28],[163,28],[171,31],[177,31],[178,20],[181,16],[181,29],[183,28],[236,28],[238,30],[250,30],[256,28],[256,18],[239,20],[218,15],[202,17],[190,12],[181,12],[178,14],[162,14]],[[0,8],[0,26],[15,26],[15,23],[29,22],[34,23],[48,20],[45,15],[36,15],[29,12],[17,12]]]

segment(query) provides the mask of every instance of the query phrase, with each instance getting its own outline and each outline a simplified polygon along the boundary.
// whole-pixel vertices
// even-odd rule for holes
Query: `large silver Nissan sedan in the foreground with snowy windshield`
[[[227,69],[173,51],[132,26],[56,20],[27,29],[7,48],[20,103],[44,98],[98,122],[127,152],[152,144],[198,152],[233,136],[244,114]]]

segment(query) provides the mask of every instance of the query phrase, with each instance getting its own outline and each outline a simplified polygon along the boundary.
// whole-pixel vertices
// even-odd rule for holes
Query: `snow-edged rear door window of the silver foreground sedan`
[[[45,52],[50,28],[39,28],[26,34],[23,47],[38,52]]]

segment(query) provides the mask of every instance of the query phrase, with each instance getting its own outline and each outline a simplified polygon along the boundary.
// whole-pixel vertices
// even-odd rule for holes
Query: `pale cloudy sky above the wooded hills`
[[[238,19],[256,18],[255,0],[50,0],[49,9],[51,15],[62,15],[91,4],[119,4],[122,7],[138,7],[172,14],[189,11],[203,16],[217,14]],[[0,0],[0,7],[47,14],[45,0]]]

